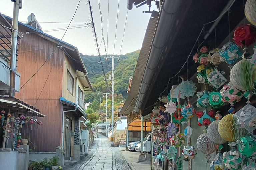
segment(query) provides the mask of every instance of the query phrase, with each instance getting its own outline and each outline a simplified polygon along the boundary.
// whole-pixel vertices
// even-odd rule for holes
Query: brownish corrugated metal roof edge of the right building
[[[149,19],[148,27],[142,43],[137,65],[133,74],[129,95],[123,105],[123,108],[120,111],[120,114],[129,115],[134,109],[135,101],[141,84],[141,79],[148,59],[151,42],[155,33],[156,23],[157,18]]]

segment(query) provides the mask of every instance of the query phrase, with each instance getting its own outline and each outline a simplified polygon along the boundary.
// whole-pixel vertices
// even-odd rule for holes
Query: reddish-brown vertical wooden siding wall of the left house
[[[27,31],[19,27],[18,32]],[[19,40],[17,71],[21,74],[20,86],[30,79],[56,46],[57,44],[32,33],[26,34]],[[35,151],[55,151],[55,147],[61,145],[62,104],[59,102],[59,97],[62,95],[63,58],[64,52],[57,48],[29,83],[19,93],[15,93],[16,98],[20,100],[24,98],[24,102],[34,106],[42,91],[35,107],[48,117],[38,118],[43,122],[39,128],[36,125],[32,130],[22,129],[22,138],[29,137],[37,146]]]

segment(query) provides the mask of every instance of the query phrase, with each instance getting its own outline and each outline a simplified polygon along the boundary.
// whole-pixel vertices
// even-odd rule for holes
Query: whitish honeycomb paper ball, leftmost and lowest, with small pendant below
[[[211,158],[209,154],[216,150],[216,143],[210,140],[207,133],[203,133],[198,137],[196,146],[202,153],[206,154],[205,157],[207,162],[209,162],[209,159]]]

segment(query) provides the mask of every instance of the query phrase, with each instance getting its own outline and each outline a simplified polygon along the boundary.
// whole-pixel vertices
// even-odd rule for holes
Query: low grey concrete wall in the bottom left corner
[[[15,151],[11,149],[0,149],[1,169],[28,170],[28,145],[20,145]]]

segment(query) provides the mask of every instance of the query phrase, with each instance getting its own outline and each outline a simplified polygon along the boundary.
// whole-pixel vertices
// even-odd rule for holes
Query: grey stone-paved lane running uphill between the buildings
[[[111,147],[105,136],[98,134],[88,156],[63,170],[130,170],[118,147]]]

